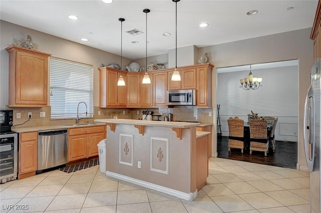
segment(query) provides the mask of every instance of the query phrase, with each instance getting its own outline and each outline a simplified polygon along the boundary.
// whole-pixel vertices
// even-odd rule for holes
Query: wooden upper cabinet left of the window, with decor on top
[[[9,52],[9,106],[48,106],[48,58],[35,50],[11,46]]]

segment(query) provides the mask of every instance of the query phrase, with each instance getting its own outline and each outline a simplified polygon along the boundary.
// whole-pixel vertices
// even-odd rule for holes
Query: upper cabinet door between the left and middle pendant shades
[[[127,74],[127,106],[139,106],[139,75]]]

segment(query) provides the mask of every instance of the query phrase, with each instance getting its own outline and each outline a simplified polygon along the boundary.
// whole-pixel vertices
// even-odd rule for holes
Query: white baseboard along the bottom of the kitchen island
[[[132,178],[132,177],[124,176],[122,174],[117,174],[117,173],[110,172],[110,171],[106,171],[105,175],[109,176],[109,177],[113,177],[113,178],[119,179],[119,180],[123,180],[123,181],[126,181],[126,182],[130,182],[130,183],[133,183],[133,184],[136,184],[136,185],[140,185],[142,187],[150,188],[150,189],[153,189],[155,191],[159,191],[159,192],[163,192],[163,193],[166,193],[166,194],[170,194],[170,195],[173,195],[173,196],[185,199],[185,200],[189,200],[189,201],[193,201],[197,197],[197,189],[194,192],[185,193],[185,192],[178,191],[178,190],[175,190],[175,189],[171,189],[171,188],[168,188],[168,187],[165,187],[165,186],[153,184],[153,183],[150,183],[150,182],[145,182],[145,181],[142,181],[142,180],[138,180],[138,179],[135,179],[135,178]]]

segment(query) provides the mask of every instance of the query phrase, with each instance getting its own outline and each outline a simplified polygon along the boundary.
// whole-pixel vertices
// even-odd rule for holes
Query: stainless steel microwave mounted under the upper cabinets
[[[196,105],[196,90],[167,91],[167,105]]]

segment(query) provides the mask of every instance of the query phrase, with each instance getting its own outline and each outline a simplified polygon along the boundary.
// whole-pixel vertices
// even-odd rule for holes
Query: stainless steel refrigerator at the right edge
[[[311,70],[303,115],[303,142],[307,167],[310,170],[310,212],[320,213],[320,59]]]

